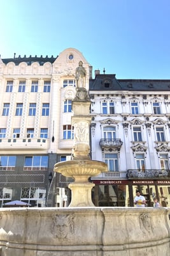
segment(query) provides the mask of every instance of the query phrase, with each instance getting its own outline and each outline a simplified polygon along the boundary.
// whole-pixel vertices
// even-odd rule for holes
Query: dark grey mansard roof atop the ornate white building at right
[[[117,79],[115,74],[98,74],[90,79],[91,91],[170,91],[170,79]]]

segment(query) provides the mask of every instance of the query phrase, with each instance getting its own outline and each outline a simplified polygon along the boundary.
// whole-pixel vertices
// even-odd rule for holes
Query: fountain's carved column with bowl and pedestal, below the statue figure
[[[78,81],[77,81],[78,84]],[[90,160],[89,129],[90,129],[90,99],[84,87],[77,86],[76,97],[73,100],[72,126],[74,127],[74,145],[72,160],[55,164],[54,172],[72,177],[71,204],[69,207],[94,206],[91,190],[95,186],[89,178],[101,172],[108,172],[106,163]]]

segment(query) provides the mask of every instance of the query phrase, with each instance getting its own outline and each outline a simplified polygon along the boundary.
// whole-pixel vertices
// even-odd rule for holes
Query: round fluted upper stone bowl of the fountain
[[[54,172],[59,172],[66,177],[72,177],[75,182],[87,182],[89,177],[108,172],[108,166],[101,161],[90,159],[62,161],[55,164]]]

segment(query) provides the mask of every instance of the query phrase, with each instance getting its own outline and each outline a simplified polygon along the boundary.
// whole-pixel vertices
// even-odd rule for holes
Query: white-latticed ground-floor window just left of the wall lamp
[[[45,207],[45,188],[22,188],[20,200],[31,204],[32,207]]]

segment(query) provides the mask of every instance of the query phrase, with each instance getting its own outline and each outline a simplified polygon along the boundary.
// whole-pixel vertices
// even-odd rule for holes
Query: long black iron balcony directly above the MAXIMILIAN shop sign
[[[166,179],[170,170],[127,170],[128,179]]]

